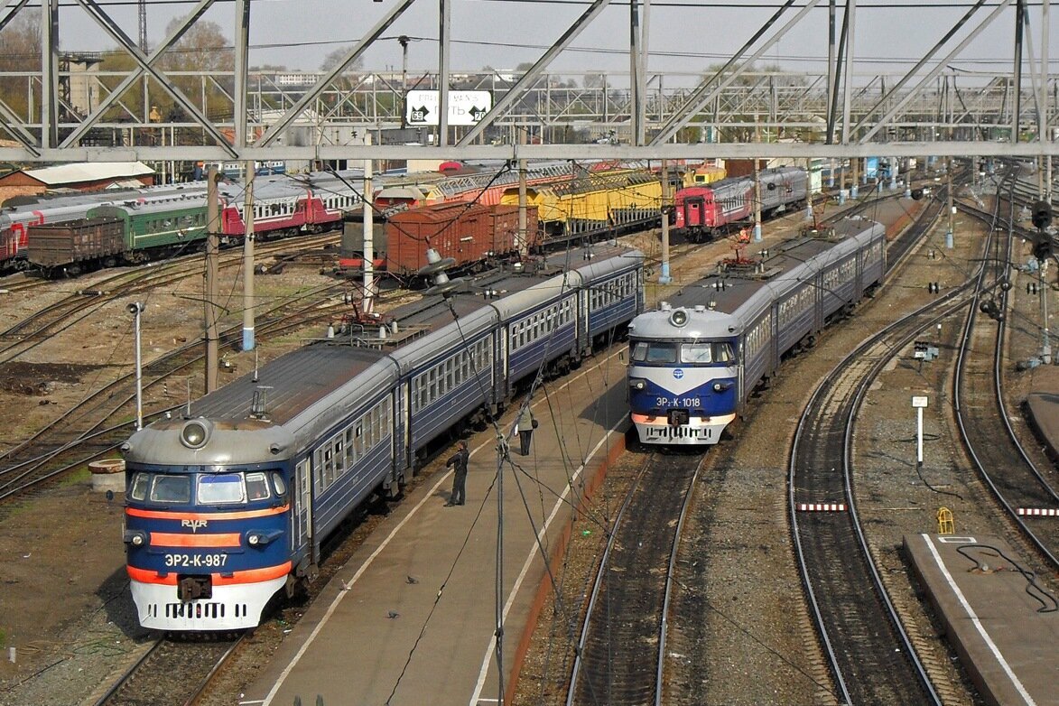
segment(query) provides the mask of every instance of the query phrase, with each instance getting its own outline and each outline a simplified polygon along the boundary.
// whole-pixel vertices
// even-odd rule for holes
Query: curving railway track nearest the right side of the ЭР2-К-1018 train
[[[861,344],[816,388],[797,423],[788,512],[810,614],[840,703],[944,703],[891,601],[861,525],[852,430],[864,396],[895,351],[969,306],[976,284],[968,279]]]

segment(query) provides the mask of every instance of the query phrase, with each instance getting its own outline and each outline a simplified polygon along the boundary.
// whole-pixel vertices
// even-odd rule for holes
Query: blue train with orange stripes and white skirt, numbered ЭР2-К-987
[[[140,623],[257,626],[317,575],[321,543],[360,504],[399,494],[539,370],[623,337],[643,309],[643,259],[602,243],[450,279],[132,434],[123,539]]]

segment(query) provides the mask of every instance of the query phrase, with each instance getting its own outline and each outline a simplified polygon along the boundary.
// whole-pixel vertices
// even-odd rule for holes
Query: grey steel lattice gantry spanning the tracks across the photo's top
[[[334,0],[339,4],[339,0]],[[759,26],[738,29],[739,49],[699,71],[651,70],[650,0],[625,0],[627,71],[555,71],[550,67],[611,5],[585,0],[580,15],[518,73],[450,70],[451,5],[460,0],[387,0],[374,23],[353,26],[359,39],[329,71],[300,74],[301,85],[274,71],[250,71],[250,29],[264,3],[230,0],[231,68],[182,67],[179,42],[216,0],[179,5],[182,18],[146,47],[115,19],[116,5],[73,0],[127,55],[131,68],[97,67],[91,53],[64,49],[58,37],[72,10],[59,0],[39,8],[39,57],[32,66],[0,49],[0,159],[8,162],[127,160],[352,160],[352,159],[684,159],[728,157],[852,158],[886,155],[1020,156],[1057,153],[1057,77],[1048,71],[1049,0],[977,0],[933,46],[900,70],[867,71],[854,37],[856,0],[776,0]],[[149,4],[149,3],[148,3]],[[617,4],[610,12],[617,12]],[[0,31],[29,0],[0,0]],[[497,3],[502,12],[502,3]],[[436,65],[413,71],[417,89],[439,94],[489,91],[492,107],[477,124],[450,126],[441,110],[431,140],[421,144],[365,144],[363,135],[405,125],[407,67],[400,72],[361,68],[367,50],[407,13],[432,13]],[[701,13],[708,24],[712,7]],[[909,13],[915,12],[910,8]],[[784,37],[810,13],[828,15],[815,72],[762,69]],[[698,15],[697,15],[698,17]],[[954,68],[988,28],[1012,37],[1004,70],[969,73]],[[543,28],[543,23],[542,23]],[[539,31],[526,28],[526,32]],[[744,35],[744,36],[742,36]],[[66,34],[64,34],[66,36]],[[651,40],[650,37],[654,36]],[[407,50],[407,37],[402,37]],[[1035,46],[1036,44],[1036,46]],[[4,42],[2,47],[10,47]],[[1034,49],[1037,55],[1034,55]],[[771,53],[770,53],[771,52]],[[176,57],[176,58],[175,58]],[[21,56],[24,59],[24,55]],[[95,61],[95,64],[93,64]],[[84,70],[91,65],[94,71]],[[356,71],[351,67],[358,67]],[[591,80],[590,80],[591,78]],[[73,87],[77,87],[74,90]],[[87,94],[77,102],[74,93]],[[157,105],[170,106],[164,111]],[[585,134],[611,139],[589,142]],[[528,139],[527,139],[528,135]],[[599,144],[603,143],[603,144]]]

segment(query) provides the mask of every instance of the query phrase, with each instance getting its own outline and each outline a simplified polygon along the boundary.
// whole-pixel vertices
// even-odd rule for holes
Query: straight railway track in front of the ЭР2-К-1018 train
[[[666,612],[703,457],[700,451],[644,459],[593,581],[568,706],[663,703]]]

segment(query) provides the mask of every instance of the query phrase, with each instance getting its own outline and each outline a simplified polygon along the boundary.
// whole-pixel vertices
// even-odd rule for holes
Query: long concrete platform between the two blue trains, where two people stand
[[[469,439],[467,504],[445,507],[451,473],[410,493],[336,575],[239,704],[289,706],[295,696],[306,705],[322,696],[327,706],[496,704],[517,678],[526,628],[543,603],[545,559],[562,550],[580,497],[625,448],[624,375],[615,352],[586,361],[561,386],[550,386],[548,397],[535,396],[540,426],[528,456],[518,455],[517,436],[510,441],[519,470],[504,466],[502,503],[493,434]],[[513,427],[509,411],[504,433]]]

